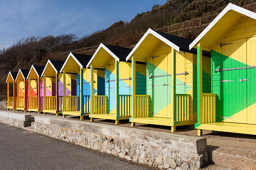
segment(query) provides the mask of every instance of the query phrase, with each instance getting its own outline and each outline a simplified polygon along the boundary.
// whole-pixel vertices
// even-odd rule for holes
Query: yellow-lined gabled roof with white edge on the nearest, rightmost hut
[[[213,38],[217,40],[218,36],[220,37],[223,35],[229,28],[233,26],[233,24],[241,19],[241,17],[238,16],[246,16],[256,20],[256,14],[254,12],[229,3],[228,6],[225,7],[222,12],[218,14],[217,17],[206,27],[206,29],[204,29],[201,34],[189,45],[189,49],[192,49],[204,36],[206,36],[206,42],[207,38],[211,39],[209,38],[209,35],[212,35]],[[213,42],[215,41],[213,40]]]

